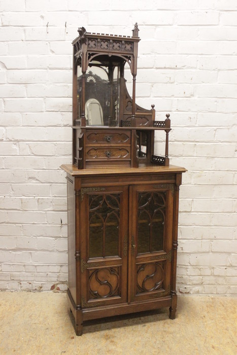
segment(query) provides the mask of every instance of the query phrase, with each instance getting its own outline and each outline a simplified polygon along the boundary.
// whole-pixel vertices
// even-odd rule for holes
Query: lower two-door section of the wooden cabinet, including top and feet
[[[69,290],[83,322],[170,307],[175,318],[178,201],[184,168],[67,172]]]

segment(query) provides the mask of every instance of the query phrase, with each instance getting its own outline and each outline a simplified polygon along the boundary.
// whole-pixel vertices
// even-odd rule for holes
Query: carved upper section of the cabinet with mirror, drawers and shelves
[[[78,29],[73,41],[73,163],[92,166],[130,166],[155,163],[167,166],[170,115],[155,121],[155,110],[136,104],[139,28],[132,36]],[[132,76],[132,95],[124,78]],[[165,155],[154,155],[154,131],[164,130]]]

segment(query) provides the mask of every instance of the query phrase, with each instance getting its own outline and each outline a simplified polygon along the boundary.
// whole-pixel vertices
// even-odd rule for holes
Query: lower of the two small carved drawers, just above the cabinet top
[[[114,160],[130,159],[130,147],[106,147],[106,148],[87,148],[86,159],[91,160]]]

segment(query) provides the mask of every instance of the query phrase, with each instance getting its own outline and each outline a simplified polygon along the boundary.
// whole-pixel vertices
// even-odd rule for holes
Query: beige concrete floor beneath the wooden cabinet
[[[0,292],[0,354],[237,354],[237,299],[179,296],[168,308],[87,322],[75,335],[65,293]]]

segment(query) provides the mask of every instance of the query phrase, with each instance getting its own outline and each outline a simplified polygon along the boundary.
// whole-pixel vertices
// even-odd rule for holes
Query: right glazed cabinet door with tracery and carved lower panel
[[[171,294],[174,185],[130,188],[130,302]]]

